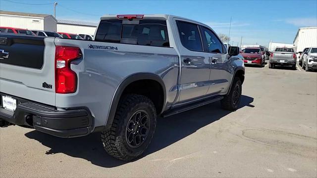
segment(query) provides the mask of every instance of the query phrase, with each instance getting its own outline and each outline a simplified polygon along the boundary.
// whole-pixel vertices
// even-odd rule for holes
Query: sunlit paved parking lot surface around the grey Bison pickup
[[[106,154],[100,134],[0,128],[0,177],[317,177],[317,73],[246,67],[240,108],[160,118],[144,157]]]

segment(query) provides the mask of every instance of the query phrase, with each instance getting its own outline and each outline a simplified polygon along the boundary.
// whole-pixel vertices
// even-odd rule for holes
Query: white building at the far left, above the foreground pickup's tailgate
[[[48,14],[0,10],[0,26],[56,32],[56,19]]]

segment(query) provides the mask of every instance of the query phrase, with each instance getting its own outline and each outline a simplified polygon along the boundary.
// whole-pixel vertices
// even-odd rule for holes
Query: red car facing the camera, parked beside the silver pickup
[[[241,54],[244,58],[245,64],[253,64],[262,66],[265,62],[260,47],[246,47]]]

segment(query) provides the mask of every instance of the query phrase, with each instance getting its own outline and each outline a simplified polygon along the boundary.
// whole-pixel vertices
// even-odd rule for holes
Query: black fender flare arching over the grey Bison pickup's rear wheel
[[[135,81],[139,81],[139,80],[154,80],[156,82],[158,82],[160,84],[160,86],[163,89],[163,94],[164,94],[164,100],[163,100],[163,107],[162,110],[164,110],[165,108],[165,104],[166,104],[166,89],[165,89],[165,85],[163,80],[156,74],[153,73],[136,73],[136,74],[132,74],[128,77],[126,77],[125,79],[122,80],[122,82],[119,84],[119,86],[117,87],[117,89],[114,92],[112,101],[111,101],[111,105],[110,105],[110,110],[108,112],[107,115],[107,121],[106,121],[106,126],[104,127],[103,130],[107,130],[111,127],[114,116],[115,116],[115,112],[117,109],[117,106],[119,104],[119,100],[121,98],[121,95],[124,91],[124,89],[131,83],[135,82]]]

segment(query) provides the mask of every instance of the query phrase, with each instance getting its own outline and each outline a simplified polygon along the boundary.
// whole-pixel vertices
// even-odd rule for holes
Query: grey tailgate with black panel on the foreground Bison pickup
[[[53,41],[0,34],[0,92],[54,106]]]

